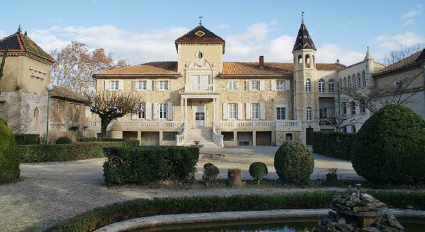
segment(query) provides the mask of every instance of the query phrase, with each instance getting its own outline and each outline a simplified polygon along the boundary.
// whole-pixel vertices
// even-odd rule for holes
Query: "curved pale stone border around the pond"
[[[119,221],[99,228],[94,232],[123,232],[149,226],[166,226],[170,224],[193,224],[215,221],[237,221],[253,219],[296,219],[319,218],[326,216],[331,209],[278,209],[263,211],[227,211],[201,214],[169,214],[147,216],[137,219]],[[387,211],[396,217],[425,219],[425,211],[412,209],[389,209]]]

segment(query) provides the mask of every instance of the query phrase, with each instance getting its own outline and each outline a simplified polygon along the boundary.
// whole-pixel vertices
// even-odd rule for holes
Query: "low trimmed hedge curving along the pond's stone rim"
[[[425,209],[424,192],[366,190],[388,206],[398,209]],[[109,204],[73,216],[51,231],[89,232],[118,221],[143,216],[165,214],[194,214],[217,211],[249,211],[272,209],[327,209],[336,192],[297,192],[281,195],[234,195],[229,197],[179,197],[134,199]]]

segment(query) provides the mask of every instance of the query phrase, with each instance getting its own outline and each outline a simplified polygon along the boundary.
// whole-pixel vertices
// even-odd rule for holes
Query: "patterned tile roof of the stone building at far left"
[[[35,56],[47,60],[47,62],[55,63],[55,59],[50,57],[45,51],[38,47],[33,40],[28,37],[28,35],[22,35],[21,32],[17,32],[13,35],[5,37],[3,40],[0,40],[0,52],[8,50],[11,53],[30,53],[35,54]]]

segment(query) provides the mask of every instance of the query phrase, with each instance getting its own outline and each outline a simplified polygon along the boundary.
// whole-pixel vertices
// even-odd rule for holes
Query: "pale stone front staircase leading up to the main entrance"
[[[203,145],[205,149],[220,149],[220,146],[217,146],[212,139],[212,129],[208,127],[188,129],[182,145],[194,145],[193,141],[199,141],[199,145]]]

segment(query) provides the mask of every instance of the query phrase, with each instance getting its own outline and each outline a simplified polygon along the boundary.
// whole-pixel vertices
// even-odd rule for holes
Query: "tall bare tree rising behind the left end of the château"
[[[52,66],[52,83],[72,88],[84,95],[94,90],[93,74],[128,66],[125,59],[115,64],[113,54],[106,54],[103,48],[90,52],[86,44],[77,41],[72,41],[62,50],[53,50],[50,55],[56,60]]]

